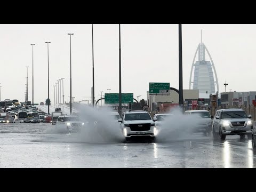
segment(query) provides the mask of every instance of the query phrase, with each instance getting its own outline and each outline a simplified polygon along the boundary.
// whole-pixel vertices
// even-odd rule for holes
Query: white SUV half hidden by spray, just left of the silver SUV
[[[193,132],[203,132],[205,136],[209,136],[212,132],[212,117],[207,110],[186,110],[185,115],[195,115],[197,120],[196,128]],[[192,125],[193,126],[193,125]]]

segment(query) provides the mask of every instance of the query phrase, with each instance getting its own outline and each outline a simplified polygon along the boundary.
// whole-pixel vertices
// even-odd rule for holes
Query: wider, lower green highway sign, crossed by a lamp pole
[[[133,103],[133,93],[122,93],[122,103]],[[105,104],[119,103],[119,93],[105,93]]]

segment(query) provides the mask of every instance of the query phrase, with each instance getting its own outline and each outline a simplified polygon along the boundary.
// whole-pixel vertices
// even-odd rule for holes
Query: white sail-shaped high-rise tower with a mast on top
[[[210,57],[211,61],[205,60],[205,50]],[[198,52],[198,61],[195,62],[195,58]],[[194,73],[193,73],[194,71]],[[192,79],[192,74],[193,79]],[[214,74],[214,75],[213,75]],[[217,88],[217,89],[215,89]],[[214,67],[212,57],[207,50],[204,43],[202,43],[202,31],[201,31],[201,43],[197,46],[197,50],[193,59],[190,78],[189,89],[199,90],[200,98],[209,98],[209,94],[215,94],[219,92],[219,83],[217,73]]]

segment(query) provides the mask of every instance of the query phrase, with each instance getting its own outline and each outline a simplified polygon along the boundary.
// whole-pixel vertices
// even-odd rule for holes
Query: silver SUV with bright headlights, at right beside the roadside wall
[[[219,109],[212,123],[213,138],[226,139],[226,135],[240,135],[240,138],[252,138],[253,121],[251,115],[246,115],[243,109]]]

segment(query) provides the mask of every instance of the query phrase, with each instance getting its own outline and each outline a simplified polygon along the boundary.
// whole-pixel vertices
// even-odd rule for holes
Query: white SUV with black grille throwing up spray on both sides
[[[156,120],[157,118],[152,119],[147,111],[134,110],[124,112],[118,122],[121,123],[121,130],[126,141],[141,136],[154,140],[157,135]]]

